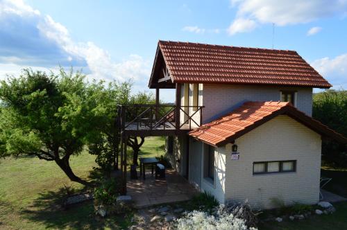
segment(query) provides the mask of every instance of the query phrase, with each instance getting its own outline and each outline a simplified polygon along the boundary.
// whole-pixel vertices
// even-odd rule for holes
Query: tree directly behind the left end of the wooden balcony
[[[155,103],[153,94],[139,92],[131,95],[131,82],[111,82],[108,87],[94,87],[94,100],[97,101],[95,116],[101,117],[97,121],[96,129],[99,134],[89,139],[90,154],[96,155],[96,163],[105,170],[118,169],[119,145],[121,141],[119,124],[117,125],[117,105],[121,104],[152,104]],[[127,107],[126,118],[133,120],[136,114],[143,112],[145,108]],[[133,162],[137,162],[139,148],[144,142],[138,143],[137,136],[128,136],[127,143],[133,148]],[[136,163],[137,164],[137,163]]]

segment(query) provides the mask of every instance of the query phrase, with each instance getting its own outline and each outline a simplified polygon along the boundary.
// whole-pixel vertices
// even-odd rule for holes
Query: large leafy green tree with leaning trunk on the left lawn
[[[84,78],[72,69],[49,75],[24,69],[1,81],[0,154],[55,161],[71,181],[86,184],[69,165],[97,120]]]

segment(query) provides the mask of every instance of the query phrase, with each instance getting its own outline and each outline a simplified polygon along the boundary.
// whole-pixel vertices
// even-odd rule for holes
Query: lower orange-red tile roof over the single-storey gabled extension
[[[322,136],[330,136],[342,143],[347,139],[319,121],[285,102],[247,102],[226,116],[189,132],[190,136],[214,146],[225,145],[250,132],[275,116],[286,114]]]

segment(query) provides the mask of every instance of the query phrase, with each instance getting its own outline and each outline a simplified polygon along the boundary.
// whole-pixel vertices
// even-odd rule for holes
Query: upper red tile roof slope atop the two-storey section
[[[296,51],[159,41],[174,82],[330,88]]]

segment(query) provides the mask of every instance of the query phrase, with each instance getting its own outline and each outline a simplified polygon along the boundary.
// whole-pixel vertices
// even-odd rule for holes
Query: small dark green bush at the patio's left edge
[[[119,180],[115,178],[107,179],[100,186],[94,188],[94,199],[103,204],[114,204],[120,193],[120,188]]]

